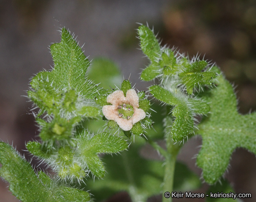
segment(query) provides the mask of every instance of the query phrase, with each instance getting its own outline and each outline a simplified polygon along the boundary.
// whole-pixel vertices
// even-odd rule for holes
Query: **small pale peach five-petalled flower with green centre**
[[[104,105],[102,112],[108,120],[115,120],[121,129],[128,131],[133,124],[146,117],[143,109],[139,109],[139,97],[134,89],[129,89],[124,97],[122,90],[116,90],[109,94],[107,102],[112,105]]]

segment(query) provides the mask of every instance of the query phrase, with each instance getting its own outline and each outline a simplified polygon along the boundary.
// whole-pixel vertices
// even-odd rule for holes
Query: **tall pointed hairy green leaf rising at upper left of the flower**
[[[35,90],[39,89],[40,80],[47,80],[54,88],[75,89],[88,99],[106,93],[85,78],[90,62],[65,28],[62,29],[61,42],[52,44],[51,53],[54,69],[40,72],[32,79],[31,85]]]

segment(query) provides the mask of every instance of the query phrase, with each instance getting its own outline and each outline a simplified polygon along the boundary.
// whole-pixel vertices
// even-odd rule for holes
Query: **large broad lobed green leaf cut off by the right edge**
[[[219,72],[220,73],[220,72]],[[217,88],[207,94],[211,113],[198,125],[203,145],[197,156],[197,165],[203,169],[207,183],[215,183],[228,168],[232,152],[246,148],[256,154],[256,113],[237,112],[236,95],[223,75]]]

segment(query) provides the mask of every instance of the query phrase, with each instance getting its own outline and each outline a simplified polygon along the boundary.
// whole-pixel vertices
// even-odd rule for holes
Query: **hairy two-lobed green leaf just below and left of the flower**
[[[87,132],[78,137],[78,155],[81,156],[92,174],[98,178],[104,177],[105,170],[99,159],[99,153],[117,153],[128,148],[128,144],[121,137],[109,135],[108,132],[102,132],[94,136]]]

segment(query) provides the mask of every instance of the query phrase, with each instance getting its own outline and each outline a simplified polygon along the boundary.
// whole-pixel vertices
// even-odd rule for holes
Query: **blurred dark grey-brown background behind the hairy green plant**
[[[49,46],[60,42],[61,27],[75,33],[89,60],[112,59],[125,79],[146,90],[150,83],[140,82],[139,73],[148,60],[138,49],[136,23],[154,27],[162,45],[216,62],[236,86],[239,112],[255,111],[255,0],[0,0],[0,140],[24,153],[25,141],[36,139],[31,102],[23,96],[30,78],[53,66]],[[200,137],[193,138],[179,155],[198,175],[192,157],[200,144]],[[255,201],[255,155],[238,148],[230,164],[225,176],[234,190],[252,193],[244,202]],[[7,186],[0,181],[0,201],[17,202]],[[108,202],[125,201],[122,197],[127,194],[117,193]]]

